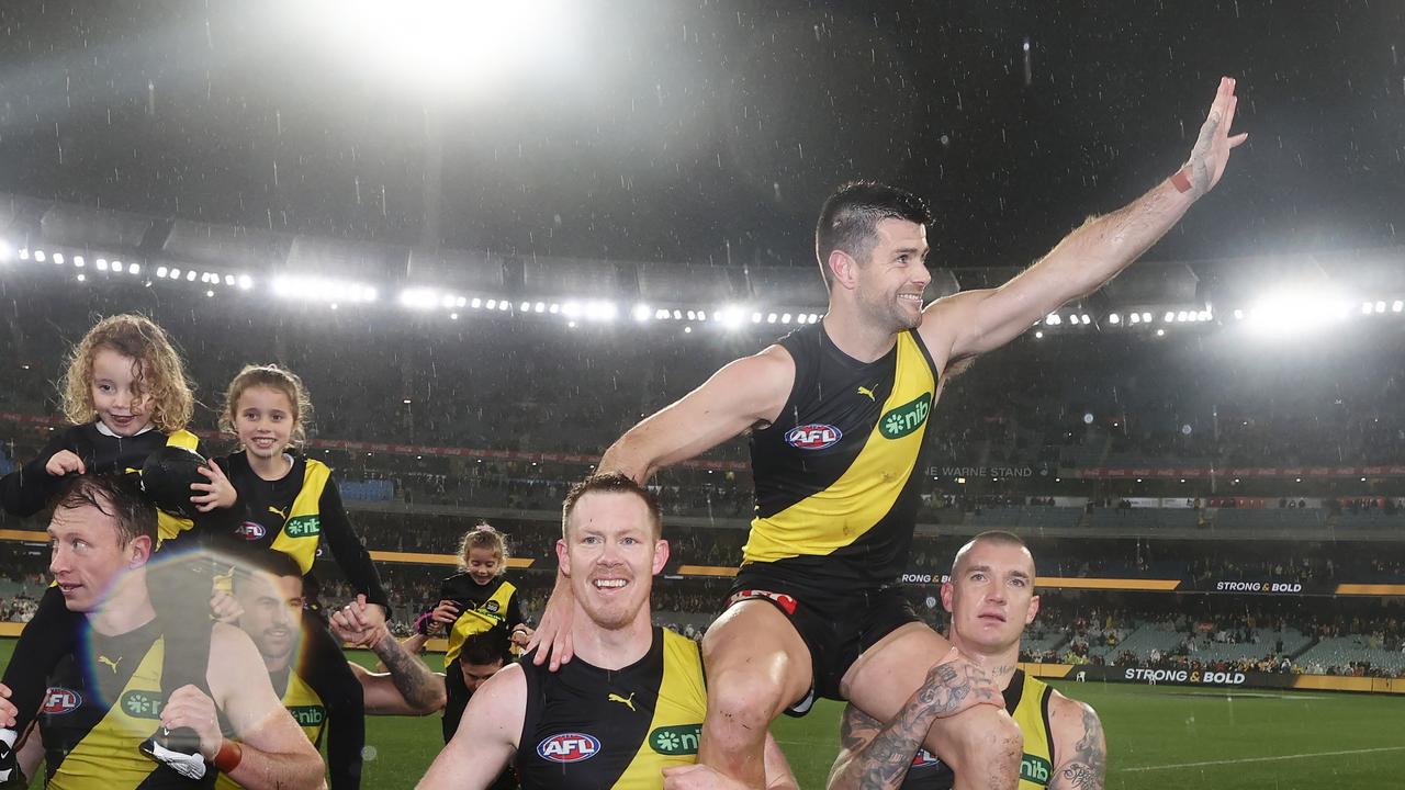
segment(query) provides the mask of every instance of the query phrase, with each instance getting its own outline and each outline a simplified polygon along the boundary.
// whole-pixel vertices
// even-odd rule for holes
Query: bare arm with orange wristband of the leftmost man
[[[211,641],[207,682],[243,752],[229,779],[247,790],[319,787],[322,755],[274,694],[254,644],[239,628],[222,623],[215,624]],[[201,751],[207,751],[205,741],[202,735]],[[212,751],[219,751],[218,738]]]

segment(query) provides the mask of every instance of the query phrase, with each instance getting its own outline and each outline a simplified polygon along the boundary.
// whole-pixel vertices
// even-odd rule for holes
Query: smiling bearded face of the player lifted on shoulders
[[[927,228],[906,219],[884,219],[874,228],[877,243],[856,267],[854,298],[865,319],[902,332],[922,325],[922,294],[927,271]]]

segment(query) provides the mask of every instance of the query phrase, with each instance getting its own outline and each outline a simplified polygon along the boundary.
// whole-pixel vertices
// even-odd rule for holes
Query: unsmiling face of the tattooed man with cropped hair
[[[976,538],[957,555],[951,581],[941,585],[951,613],[951,640],[984,652],[1019,645],[1040,610],[1034,595],[1034,557],[1014,543]]]

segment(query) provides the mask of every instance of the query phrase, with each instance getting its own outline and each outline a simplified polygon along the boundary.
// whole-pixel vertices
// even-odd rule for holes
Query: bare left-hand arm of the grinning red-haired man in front
[[[517,753],[527,711],[527,678],[513,663],[468,701],[458,732],[420,780],[422,790],[483,790]]]

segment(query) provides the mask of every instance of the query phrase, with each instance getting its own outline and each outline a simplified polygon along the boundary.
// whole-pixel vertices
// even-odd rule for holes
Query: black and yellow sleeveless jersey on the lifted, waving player
[[[916,330],[873,363],[839,350],[823,323],[780,346],[795,382],[776,422],[752,434],[756,517],[743,572],[801,590],[891,583],[922,505],[937,368]]]

